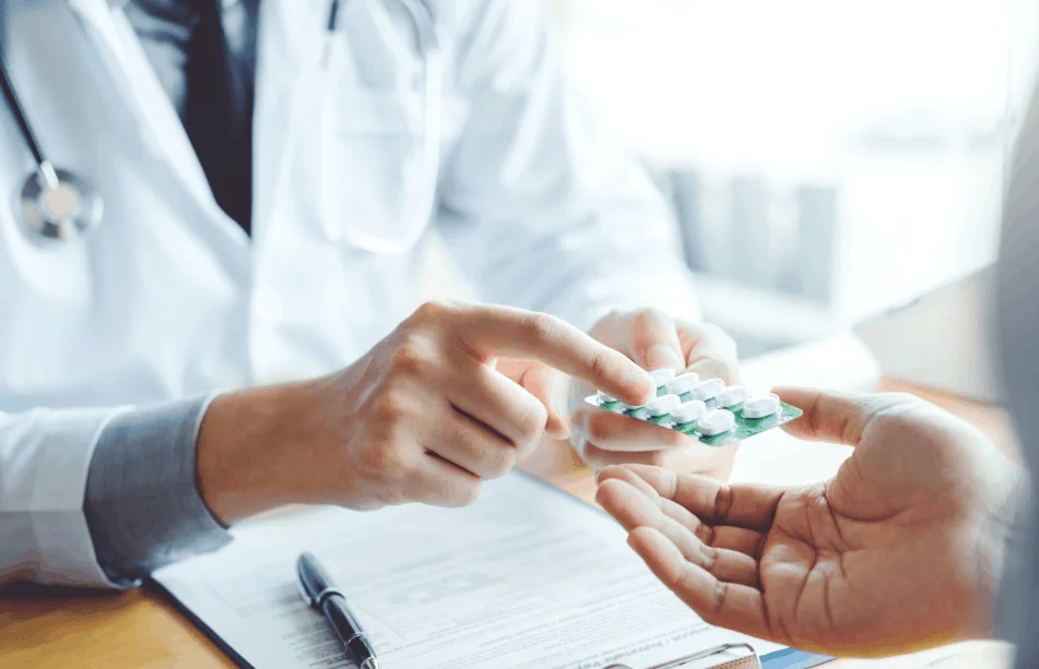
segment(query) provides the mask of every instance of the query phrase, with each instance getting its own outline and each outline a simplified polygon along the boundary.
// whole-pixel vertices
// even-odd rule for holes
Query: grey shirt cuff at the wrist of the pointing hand
[[[199,428],[215,396],[127,411],[101,433],[83,512],[111,581],[130,585],[231,541],[196,483]]]

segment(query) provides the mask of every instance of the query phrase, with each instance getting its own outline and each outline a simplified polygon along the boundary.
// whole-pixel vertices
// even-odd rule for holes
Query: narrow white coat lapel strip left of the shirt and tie
[[[122,13],[122,2],[111,0],[69,0],[83,20],[97,46],[99,57],[122,91],[123,101],[134,110],[138,132],[145,145],[169,167],[174,179],[204,208],[223,223],[219,227],[245,243],[241,228],[216,203],[191,141],[184,129],[133,27]]]

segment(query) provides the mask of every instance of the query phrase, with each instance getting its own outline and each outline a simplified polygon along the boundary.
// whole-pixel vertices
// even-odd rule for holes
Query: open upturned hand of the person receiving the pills
[[[598,499],[708,623],[878,656],[992,635],[1015,468],[975,428],[909,395],[787,391],[798,437],[854,445],[831,479],[727,486],[614,467]]]

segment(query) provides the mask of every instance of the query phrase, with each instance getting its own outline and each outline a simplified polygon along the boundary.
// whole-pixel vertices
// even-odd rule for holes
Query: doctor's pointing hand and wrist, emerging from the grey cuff
[[[286,503],[467,504],[546,429],[565,435],[550,401],[564,374],[633,403],[654,392],[625,356],[553,316],[424,304],[341,372],[217,397],[199,488],[224,523]]]

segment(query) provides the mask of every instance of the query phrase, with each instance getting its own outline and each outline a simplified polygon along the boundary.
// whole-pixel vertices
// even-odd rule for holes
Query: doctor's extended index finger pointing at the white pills
[[[477,357],[540,360],[629,404],[645,404],[656,391],[649,373],[626,356],[545,313],[477,304],[458,319],[456,334]]]

